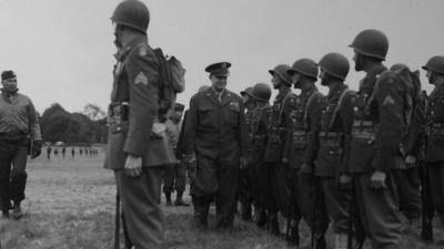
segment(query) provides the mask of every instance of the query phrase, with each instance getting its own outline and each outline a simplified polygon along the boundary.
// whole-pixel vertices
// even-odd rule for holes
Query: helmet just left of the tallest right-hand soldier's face
[[[350,70],[349,60],[340,53],[325,54],[317,65],[329,74],[341,80],[345,80]]]

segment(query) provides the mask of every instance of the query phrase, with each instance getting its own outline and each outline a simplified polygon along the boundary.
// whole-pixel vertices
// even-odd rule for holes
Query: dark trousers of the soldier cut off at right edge
[[[444,222],[444,162],[427,163],[433,206]]]

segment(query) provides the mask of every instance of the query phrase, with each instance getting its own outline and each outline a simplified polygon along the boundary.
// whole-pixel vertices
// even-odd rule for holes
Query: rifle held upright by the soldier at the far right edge
[[[424,160],[420,163],[418,170],[421,176],[421,201],[423,206],[421,239],[427,242],[433,242],[432,220],[434,216],[434,208],[430,186],[428,167]]]

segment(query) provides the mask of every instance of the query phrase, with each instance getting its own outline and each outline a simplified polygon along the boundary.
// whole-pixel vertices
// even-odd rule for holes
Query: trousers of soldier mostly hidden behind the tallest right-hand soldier
[[[416,167],[397,169],[395,172],[400,210],[410,220],[421,217],[421,188]]]

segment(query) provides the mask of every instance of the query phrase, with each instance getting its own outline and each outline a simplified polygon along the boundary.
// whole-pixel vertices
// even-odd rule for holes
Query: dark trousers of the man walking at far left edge
[[[10,200],[24,199],[27,185],[28,141],[0,141],[0,209],[11,208]],[[12,168],[12,170],[11,170]]]

